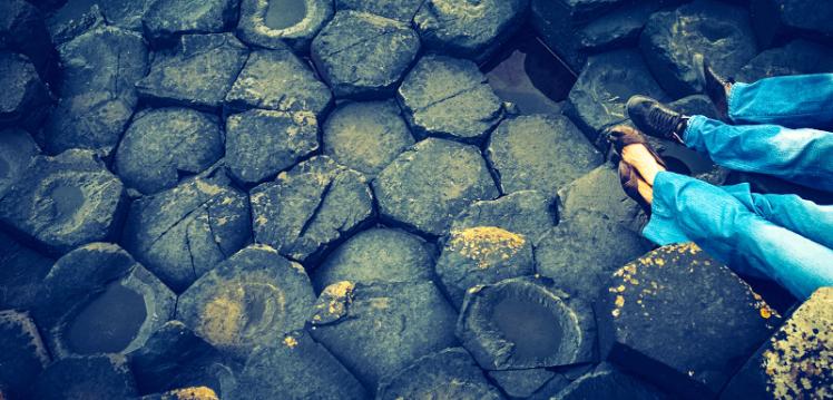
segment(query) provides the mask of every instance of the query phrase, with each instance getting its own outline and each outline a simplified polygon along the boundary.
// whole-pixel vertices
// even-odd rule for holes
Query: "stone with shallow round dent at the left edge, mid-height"
[[[0,219],[62,254],[115,235],[126,208],[121,182],[92,152],[39,156],[0,199]]]

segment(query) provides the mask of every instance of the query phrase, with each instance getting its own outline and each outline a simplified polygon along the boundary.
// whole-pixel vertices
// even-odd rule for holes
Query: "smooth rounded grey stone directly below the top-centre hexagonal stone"
[[[393,100],[341,105],[323,130],[324,154],[369,179],[414,143]]]

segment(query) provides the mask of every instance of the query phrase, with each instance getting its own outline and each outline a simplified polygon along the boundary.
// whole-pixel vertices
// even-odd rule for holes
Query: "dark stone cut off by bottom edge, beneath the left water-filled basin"
[[[43,400],[131,399],[136,382],[122,355],[72,357],[57,361],[32,386]]]

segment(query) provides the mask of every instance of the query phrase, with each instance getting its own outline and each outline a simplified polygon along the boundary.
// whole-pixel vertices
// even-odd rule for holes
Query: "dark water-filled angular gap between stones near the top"
[[[489,85],[521,114],[561,114],[576,75],[531,30],[516,35],[481,66]]]

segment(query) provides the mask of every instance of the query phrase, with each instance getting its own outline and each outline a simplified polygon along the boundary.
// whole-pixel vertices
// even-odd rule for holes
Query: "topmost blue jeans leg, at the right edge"
[[[735,124],[833,127],[833,74],[795,75],[735,84],[728,96]]]

